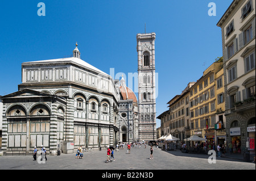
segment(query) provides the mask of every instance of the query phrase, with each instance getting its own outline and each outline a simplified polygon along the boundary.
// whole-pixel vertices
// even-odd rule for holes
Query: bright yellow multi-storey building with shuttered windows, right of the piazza
[[[224,81],[222,75],[222,62],[216,61],[204,71],[203,76],[189,89],[191,135],[206,137],[208,143],[216,142],[214,126],[220,120],[222,120],[223,125],[224,121],[224,112],[222,112],[225,110],[223,104]],[[217,84],[219,85],[217,86]],[[218,130],[223,133],[223,129]]]

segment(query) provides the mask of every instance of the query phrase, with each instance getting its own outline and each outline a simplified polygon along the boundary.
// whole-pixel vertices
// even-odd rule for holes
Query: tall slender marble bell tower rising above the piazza
[[[139,140],[156,140],[155,33],[137,34]]]

